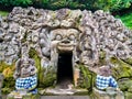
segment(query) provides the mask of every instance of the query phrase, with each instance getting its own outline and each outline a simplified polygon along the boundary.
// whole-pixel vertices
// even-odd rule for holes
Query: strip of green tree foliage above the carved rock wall
[[[132,0],[0,0],[1,6],[6,7],[38,7],[44,9],[87,9],[87,10],[98,10],[102,9],[105,11],[119,11],[122,9],[130,8]]]

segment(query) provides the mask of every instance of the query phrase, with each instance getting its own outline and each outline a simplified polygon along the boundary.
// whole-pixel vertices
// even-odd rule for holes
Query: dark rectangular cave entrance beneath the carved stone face
[[[73,84],[73,53],[59,53],[57,63],[57,85],[61,88],[68,88]]]

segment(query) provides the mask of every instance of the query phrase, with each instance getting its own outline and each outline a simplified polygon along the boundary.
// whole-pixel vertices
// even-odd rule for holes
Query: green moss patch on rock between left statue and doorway
[[[37,68],[38,88],[54,86],[54,81],[56,79],[55,72],[50,69],[48,73],[46,73],[46,76],[44,75],[45,68],[41,67],[41,58],[34,48],[30,50],[29,56],[35,61],[35,66]]]

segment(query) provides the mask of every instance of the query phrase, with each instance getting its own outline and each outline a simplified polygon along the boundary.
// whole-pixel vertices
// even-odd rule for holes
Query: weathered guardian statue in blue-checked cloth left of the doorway
[[[22,58],[15,64],[15,88],[21,95],[21,90],[26,92],[36,92],[37,77],[36,67],[33,59],[29,58],[26,45],[22,48]]]

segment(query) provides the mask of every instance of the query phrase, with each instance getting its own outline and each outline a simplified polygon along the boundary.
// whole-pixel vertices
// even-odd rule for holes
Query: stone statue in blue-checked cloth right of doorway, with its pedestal
[[[96,88],[94,95],[100,99],[124,99],[122,91],[120,91],[117,80],[111,76],[110,66],[99,67],[96,78]]]

